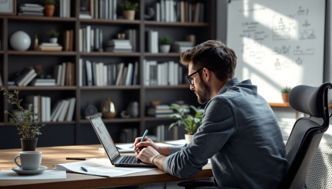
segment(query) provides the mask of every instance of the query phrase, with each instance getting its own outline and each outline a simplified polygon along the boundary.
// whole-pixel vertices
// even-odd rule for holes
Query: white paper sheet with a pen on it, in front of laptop
[[[132,174],[136,172],[143,172],[148,170],[154,170],[156,168],[124,168],[124,167],[114,167],[109,159],[89,159],[86,161],[78,161],[73,163],[55,164],[54,169],[58,170],[68,170],[72,172],[78,172],[83,174],[117,177],[126,174]],[[84,167],[86,171],[82,170]]]

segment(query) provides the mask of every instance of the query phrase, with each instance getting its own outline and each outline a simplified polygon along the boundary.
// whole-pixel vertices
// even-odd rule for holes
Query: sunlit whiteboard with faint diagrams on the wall
[[[325,0],[231,0],[227,22],[235,76],[268,102],[282,102],[285,86],[323,83]]]

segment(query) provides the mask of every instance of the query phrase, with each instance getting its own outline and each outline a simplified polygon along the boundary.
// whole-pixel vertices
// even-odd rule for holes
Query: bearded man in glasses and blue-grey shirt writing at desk
[[[188,178],[210,158],[218,186],[277,188],[289,167],[281,131],[257,86],[234,78],[234,51],[208,40],[182,53],[180,62],[188,67],[190,90],[199,103],[207,103],[202,124],[181,147],[159,147],[148,137],[143,142],[136,138],[137,159]]]

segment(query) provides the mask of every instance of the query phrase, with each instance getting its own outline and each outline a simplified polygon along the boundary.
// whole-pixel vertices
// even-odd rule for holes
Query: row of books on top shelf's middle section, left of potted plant
[[[117,0],[89,0],[81,3],[80,19],[117,19]]]

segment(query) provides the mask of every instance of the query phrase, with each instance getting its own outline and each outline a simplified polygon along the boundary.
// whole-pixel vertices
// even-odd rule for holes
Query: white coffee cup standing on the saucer
[[[15,156],[14,162],[22,170],[38,170],[42,163],[41,151],[21,151],[20,155]],[[20,164],[17,163],[17,158],[20,158]]]

